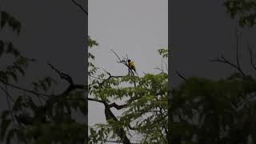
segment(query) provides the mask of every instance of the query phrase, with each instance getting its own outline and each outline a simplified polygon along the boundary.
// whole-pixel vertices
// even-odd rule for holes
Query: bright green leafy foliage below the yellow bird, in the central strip
[[[158,52],[163,58],[167,57],[166,49]],[[90,143],[104,143],[110,139],[130,143],[134,141],[133,134],[140,135],[137,142],[167,143],[167,74],[145,74],[138,78],[112,76],[106,71],[98,74],[98,68],[94,70],[89,85],[93,98],[89,100],[105,106],[107,123],[90,126]],[[122,104],[118,105],[118,101]],[[115,116],[110,107],[122,110],[122,114]]]

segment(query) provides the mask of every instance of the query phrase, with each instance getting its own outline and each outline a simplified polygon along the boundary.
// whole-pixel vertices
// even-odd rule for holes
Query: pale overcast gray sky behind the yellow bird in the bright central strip
[[[90,50],[95,64],[113,75],[125,75],[119,56],[131,58],[138,74],[156,73],[158,49],[168,46],[168,0],[89,0],[89,35],[99,46]],[[115,114],[118,114],[115,111]],[[89,124],[105,122],[104,107],[89,102]]]

